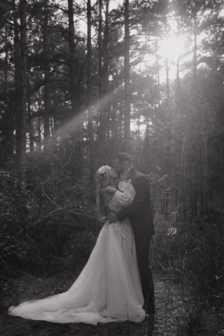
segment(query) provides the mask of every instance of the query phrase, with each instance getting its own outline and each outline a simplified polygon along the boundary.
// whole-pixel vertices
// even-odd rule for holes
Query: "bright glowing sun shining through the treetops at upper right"
[[[162,41],[159,54],[170,60],[176,60],[185,52],[185,41],[183,37],[170,36]]]

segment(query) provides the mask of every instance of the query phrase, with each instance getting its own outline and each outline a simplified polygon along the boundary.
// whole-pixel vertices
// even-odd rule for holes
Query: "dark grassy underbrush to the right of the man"
[[[223,214],[177,221],[156,214],[151,247],[155,269],[182,286],[186,304],[186,332],[202,329],[203,311],[224,307]]]

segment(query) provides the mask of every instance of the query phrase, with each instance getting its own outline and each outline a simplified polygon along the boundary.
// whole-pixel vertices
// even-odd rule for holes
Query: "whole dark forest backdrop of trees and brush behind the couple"
[[[127,151],[151,183],[153,267],[220,307],[223,1],[110,2],[1,0],[1,282],[80,272],[102,227],[94,174]]]

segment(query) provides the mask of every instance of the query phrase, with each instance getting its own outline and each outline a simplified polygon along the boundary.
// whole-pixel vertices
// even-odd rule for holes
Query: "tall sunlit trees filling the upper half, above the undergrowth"
[[[223,207],[223,1],[0,6],[1,169],[53,155],[93,186],[129,151],[162,211]]]

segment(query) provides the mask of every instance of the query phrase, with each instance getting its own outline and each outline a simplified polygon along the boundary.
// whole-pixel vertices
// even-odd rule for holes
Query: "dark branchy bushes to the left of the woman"
[[[39,167],[27,186],[0,172],[1,290],[11,276],[78,273],[102,226],[86,183],[44,163],[51,174]]]

